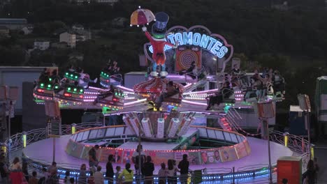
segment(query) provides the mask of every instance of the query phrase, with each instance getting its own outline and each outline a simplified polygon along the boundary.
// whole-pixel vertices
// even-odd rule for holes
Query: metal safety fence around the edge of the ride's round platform
[[[75,130],[84,130],[86,128],[94,128],[94,127],[101,127],[103,123],[100,122],[93,122],[93,123],[80,123],[75,125]],[[61,132],[63,135],[70,135],[72,130],[71,125],[61,125]],[[287,137],[287,138],[285,138]],[[36,130],[30,130],[28,132],[17,133],[10,137],[10,139],[6,140],[3,144],[4,147],[10,151],[18,151],[24,146],[27,146],[33,142],[40,141],[42,139],[47,139],[47,129],[40,128]],[[291,151],[295,153],[297,156],[301,156],[303,158],[303,165],[306,166],[306,163],[309,158],[309,151],[310,146],[309,142],[304,139],[303,137],[298,137],[296,135],[288,135],[283,132],[272,132],[270,133],[270,140],[275,141],[278,144],[283,144],[288,146]],[[285,142],[286,141],[286,142]],[[286,143],[286,144],[285,144]],[[3,149],[3,145],[1,148]],[[48,167],[50,162],[44,162],[43,160],[29,160],[29,167],[33,169],[37,169],[41,171],[42,167]],[[73,166],[72,164],[68,163],[60,163],[62,167],[65,168],[78,168],[77,166]],[[276,166],[277,163],[272,164]],[[275,167],[272,168],[275,171]],[[75,178],[78,179],[79,170],[70,169],[72,176],[75,174]],[[64,176],[66,170],[60,168],[59,174]],[[257,165],[249,165],[246,167],[240,167],[236,171],[233,168],[216,168],[216,169],[203,169],[199,171],[193,171],[188,176],[188,180],[192,183],[198,183],[198,181],[205,181],[205,183],[210,183],[215,181],[221,183],[267,183],[268,182],[268,174],[269,174],[269,167],[265,164],[257,164]],[[255,179],[254,179],[255,178]],[[159,181],[159,176],[154,176],[152,178],[155,182]],[[144,182],[145,178],[138,179],[137,177],[134,178],[136,183],[139,183],[137,180],[142,180]],[[177,180],[180,179],[177,177]],[[217,181],[217,182],[216,182]]]

